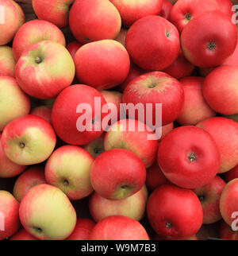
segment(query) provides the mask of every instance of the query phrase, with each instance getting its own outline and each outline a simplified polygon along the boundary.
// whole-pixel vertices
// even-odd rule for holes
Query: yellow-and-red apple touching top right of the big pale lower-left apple
[[[94,191],[90,184],[93,161],[94,158],[85,149],[63,145],[48,158],[45,179],[48,184],[60,188],[70,200],[83,199]]]

